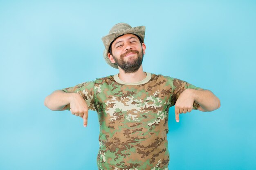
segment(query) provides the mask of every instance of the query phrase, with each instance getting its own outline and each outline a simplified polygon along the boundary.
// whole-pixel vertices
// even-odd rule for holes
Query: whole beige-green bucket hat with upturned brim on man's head
[[[144,43],[145,38],[145,26],[137,26],[137,27],[131,27],[129,24],[126,23],[118,23],[115,24],[109,31],[109,34],[102,37],[101,40],[103,41],[103,44],[105,46],[105,49],[103,51],[103,57],[105,61],[108,63],[108,65],[118,68],[116,63],[111,63],[108,58],[109,53],[109,47],[111,42],[113,42],[117,37],[124,34],[135,34],[138,35],[141,38],[141,42]]]

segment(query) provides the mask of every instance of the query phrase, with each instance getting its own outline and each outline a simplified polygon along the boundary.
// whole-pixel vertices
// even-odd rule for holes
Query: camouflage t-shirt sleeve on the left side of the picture
[[[61,90],[66,93],[79,93],[88,105],[88,109],[96,110],[94,102],[94,81],[80,83],[76,86],[63,88]],[[67,110],[70,110],[70,104],[67,105]]]

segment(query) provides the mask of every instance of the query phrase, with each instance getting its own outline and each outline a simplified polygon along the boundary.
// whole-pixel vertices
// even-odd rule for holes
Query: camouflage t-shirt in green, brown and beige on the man
[[[136,84],[110,75],[63,91],[80,93],[88,108],[98,113],[99,170],[168,170],[168,110],[186,88],[199,89],[147,73]],[[193,109],[197,107],[194,102]]]

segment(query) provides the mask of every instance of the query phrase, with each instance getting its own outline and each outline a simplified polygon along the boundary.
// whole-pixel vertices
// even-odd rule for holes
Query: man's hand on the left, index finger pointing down
[[[88,106],[79,93],[73,93],[70,98],[70,112],[73,115],[83,117],[83,126],[87,126]]]

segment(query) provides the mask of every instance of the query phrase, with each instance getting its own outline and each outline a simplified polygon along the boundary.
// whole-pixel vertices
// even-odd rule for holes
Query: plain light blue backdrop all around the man
[[[256,169],[256,1],[0,0],[0,170],[96,170],[97,113],[88,127],[51,111],[56,89],[114,75],[101,37],[146,26],[144,71],[211,90],[221,107],[169,112],[170,170]]]

